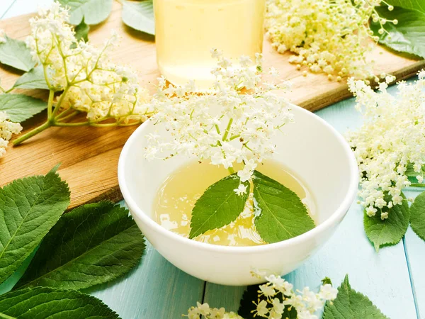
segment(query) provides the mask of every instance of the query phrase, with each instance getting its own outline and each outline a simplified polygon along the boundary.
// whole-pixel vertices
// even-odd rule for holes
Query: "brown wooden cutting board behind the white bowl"
[[[113,58],[131,65],[139,74],[140,84],[152,89],[152,84],[159,77],[154,37],[128,28],[121,22],[120,15],[120,4],[115,2],[111,16],[105,23],[92,26],[89,38],[92,43],[103,43],[111,29],[115,29],[122,36],[122,43],[115,50]],[[25,39],[30,33],[28,19],[32,16],[30,14],[0,21],[0,28],[6,30],[11,38]],[[297,105],[316,111],[351,96],[346,82],[329,82],[323,74],[303,77],[294,65],[288,63],[290,55],[279,55],[267,39],[264,41],[263,55],[265,67],[276,67],[285,79],[293,82],[292,91],[286,96]],[[387,72],[398,79],[411,77],[425,67],[423,60],[399,57],[381,47],[376,47],[372,55],[377,61],[377,74]],[[20,75],[21,72],[2,66],[1,86],[8,89]],[[47,97],[40,90],[25,92],[42,99]],[[40,125],[45,117],[46,114],[42,113],[26,121],[23,123],[24,131]],[[18,147],[8,147],[6,156],[0,159],[0,186],[28,175],[45,174],[55,164],[62,163],[58,172],[71,189],[69,208],[101,198],[118,201],[121,198],[117,179],[118,157],[133,130],[135,127],[49,128]]]

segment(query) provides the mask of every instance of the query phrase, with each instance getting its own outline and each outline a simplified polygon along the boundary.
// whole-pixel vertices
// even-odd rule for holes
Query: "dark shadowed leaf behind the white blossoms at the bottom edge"
[[[259,296],[259,285],[247,286],[244,294],[242,295],[241,303],[239,305],[239,310],[237,310],[238,315],[240,315],[244,319],[259,319],[258,315],[254,317],[256,304],[261,301],[266,301],[267,298],[265,296]],[[280,302],[283,301],[282,293],[277,293],[273,298],[278,298]],[[254,304],[254,302],[256,304]],[[269,310],[273,308],[270,304],[267,307]],[[297,319],[297,310],[294,307],[285,307],[285,310],[282,313],[282,319]]]

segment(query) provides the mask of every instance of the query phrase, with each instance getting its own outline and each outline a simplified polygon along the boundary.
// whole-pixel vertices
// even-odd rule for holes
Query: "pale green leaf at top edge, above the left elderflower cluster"
[[[98,24],[108,18],[113,0],[58,0],[62,6],[69,7],[69,23],[75,26],[81,21]]]

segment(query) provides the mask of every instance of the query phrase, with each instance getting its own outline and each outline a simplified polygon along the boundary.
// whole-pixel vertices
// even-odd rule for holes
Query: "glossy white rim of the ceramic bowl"
[[[127,183],[125,181],[125,159],[128,156],[128,153],[132,150],[132,144],[140,138],[140,133],[145,130],[145,127],[148,125],[149,120],[145,121],[142,125],[140,125],[128,138],[127,142],[121,151],[120,158],[118,160],[118,184],[120,186],[121,193],[123,194],[123,198],[125,203],[128,205],[130,212],[135,214],[140,220],[142,220],[147,227],[152,228],[154,231],[169,237],[169,240],[175,240],[177,242],[181,242],[182,245],[188,245],[189,247],[199,248],[202,250],[210,251],[210,252],[225,252],[225,253],[239,253],[239,254],[251,254],[254,252],[268,252],[270,250],[279,250],[284,247],[290,247],[293,245],[297,245],[300,242],[306,242],[308,240],[312,240],[314,237],[317,237],[319,234],[324,233],[326,230],[331,228],[331,225],[334,225],[337,220],[340,218],[344,218],[348,209],[350,208],[353,200],[358,191],[358,166],[356,157],[351,150],[351,147],[348,145],[348,142],[343,138],[343,136],[332,127],[327,121],[320,118],[316,114],[307,111],[305,108],[301,108],[300,106],[296,106],[294,104],[290,104],[291,108],[297,108],[297,111],[301,111],[305,113],[307,116],[314,118],[315,121],[319,121],[327,127],[331,133],[333,133],[336,139],[339,141],[341,146],[344,149],[344,153],[348,157],[348,166],[350,167],[350,179],[351,183],[348,187],[348,191],[344,196],[344,199],[341,201],[341,204],[334,211],[334,213],[329,216],[323,223],[317,225],[312,230],[307,231],[297,237],[290,238],[288,240],[283,240],[280,242],[273,242],[271,244],[266,245],[258,245],[258,246],[224,246],[224,245],[212,245],[206,242],[198,242],[196,240],[191,240],[181,235],[177,235],[173,233],[171,230],[166,230],[161,225],[156,223],[152,218],[147,216],[146,213],[142,211],[142,209],[137,206],[135,200],[130,195],[130,191],[127,187]]]

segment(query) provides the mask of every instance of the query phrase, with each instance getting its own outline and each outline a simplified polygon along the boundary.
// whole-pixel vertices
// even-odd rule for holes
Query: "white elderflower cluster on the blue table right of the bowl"
[[[387,92],[392,80],[387,77],[376,92],[363,81],[348,81],[363,115],[361,128],[347,134],[361,174],[359,196],[368,216],[378,212],[382,220],[403,201],[402,189],[411,184],[408,166],[424,181],[425,71],[414,84],[399,82],[396,96]]]

